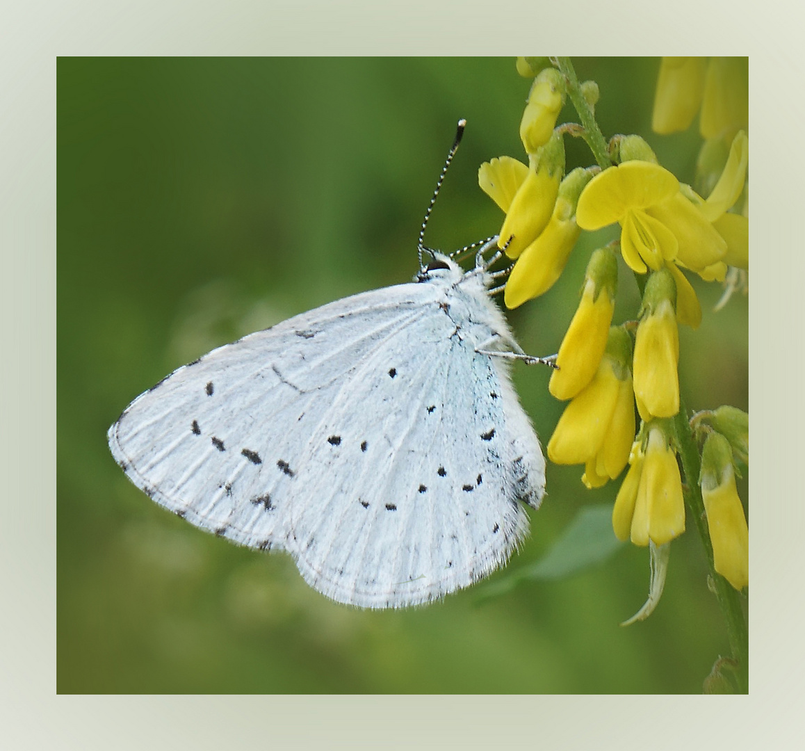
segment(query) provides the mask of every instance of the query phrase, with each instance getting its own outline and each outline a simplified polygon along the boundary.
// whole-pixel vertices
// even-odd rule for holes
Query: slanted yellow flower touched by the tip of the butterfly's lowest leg
[[[615,307],[617,258],[611,248],[590,257],[579,307],[559,346],[557,370],[548,390],[557,399],[569,399],[587,386],[606,349]]]

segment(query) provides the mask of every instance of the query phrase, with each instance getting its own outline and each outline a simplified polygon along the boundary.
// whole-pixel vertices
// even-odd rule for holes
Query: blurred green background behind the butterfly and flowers
[[[700,138],[650,133],[658,60],[578,59],[605,135],[644,135],[691,182]],[[529,81],[514,58],[65,59],[58,94],[58,671],[63,693],[698,692],[729,646],[688,522],[663,600],[645,549],[613,545],[573,576],[490,584],[546,555],[579,510],[611,506],[582,468],[547,468],[548,496],[508,567],[435,605],[362,612],[303,583],[287,555],[238,548],[160,509],[126,479],[105,432],[142,390],[217,345],[359,291],[411,279],[416,238],[456,121],[468,130],[427,243],[499,229],[477,187],[518,138]],[[569,103],[559,122],[576,120]],[[568,170],[592,163],[567,139]],[[547,355],[575,310],[593,243],[509,315]],[[616,320],[638,293],[621,266]],[[694,282],[696,284],[696,282]],[[691,409],[748,404],[747,300],[683,329]],[[547,369],[514,369],[542,436],[562,405]],[[745,481],[739,485],[746,499]],[[611,534],[611,532],[610,532]]]

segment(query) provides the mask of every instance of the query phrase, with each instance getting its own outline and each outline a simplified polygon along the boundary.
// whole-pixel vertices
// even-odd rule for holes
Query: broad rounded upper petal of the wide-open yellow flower
[[[609,167],[590,180],[576,207],[581,229],[601,229],[621,221],[630,208],[646,208],[673,196],[679,180],[664,167],[634,159]]]

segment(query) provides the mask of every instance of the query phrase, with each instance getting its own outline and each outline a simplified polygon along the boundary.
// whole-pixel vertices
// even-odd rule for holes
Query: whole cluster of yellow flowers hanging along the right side
[[[746,61],[664,58],[661,65],[654,130],[684,130],[701,110],[708,141],[697,188],[706,198],[662,167],[637,135],[609,142],[616,166],[577,167],[564,175],[563,134],[580,126],[555,127],[565,101],[563,76],[547,58],[519,58],[518,72],[535,76],[520,123],[528,164],[502,156],[478,173],[481,188],[506,214],[498,246],[516,261],[506,306],[549,290],[583,230],[620,225],[619,241],[591,255],[579,306],[559,347],[549,390],[568,405],[547,455],[556,464],[584,464],[588,488],[616,479],[628,464],[613,509],[615,534],[667,559],[667,543],[685,529],[674,420],[680,407],[678,326],[697,328],[702,320],[687,274],[723,281],[728,266],[729,274],[749,268]],[[580,91],[592,108],[597,88],[585,82]],[[613,325],[618,250],[626,266],[646,275],[638,280],[637,320],[623,325]],[[708,413],[711,435],[699,479],[716,572],[740,589],[748,582],[748,532],[733,457],[739,464],[748,458],[748,423],[745,438],[723,427],[741,424],[729,409]]]

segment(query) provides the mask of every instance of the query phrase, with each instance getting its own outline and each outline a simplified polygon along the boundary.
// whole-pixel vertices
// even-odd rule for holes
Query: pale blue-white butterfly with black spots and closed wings
[[[436,261],[175,370],[109,428],[118,464],[342,603],[417,605],[489,574],[527,532],[544,459],[493,354],[520,350],[489,274]]]

